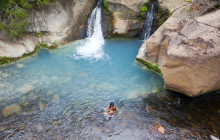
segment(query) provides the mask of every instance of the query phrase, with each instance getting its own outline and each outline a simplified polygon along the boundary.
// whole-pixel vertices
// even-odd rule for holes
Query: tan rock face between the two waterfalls
[[[138,17],[140,8],[148,0],[106,0],[113,14],[113,34],[134,37],[142,29],[144,21]]]

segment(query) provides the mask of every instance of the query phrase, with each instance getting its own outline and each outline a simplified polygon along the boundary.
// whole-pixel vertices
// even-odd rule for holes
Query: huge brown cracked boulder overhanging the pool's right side
[[[188,96],[220,89],[220,10],[199,13],[176,10],[137,55],[159,65],[166,89]]]

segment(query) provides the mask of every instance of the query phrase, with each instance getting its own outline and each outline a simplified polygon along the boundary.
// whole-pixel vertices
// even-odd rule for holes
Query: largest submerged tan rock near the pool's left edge
[[[8,117],[14,113],[18,114],[20,111],[21,111],[21,107],[18,104],[12,104],[4,108],[3,116]]]

